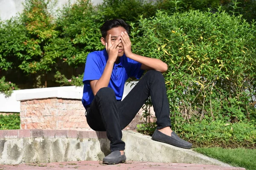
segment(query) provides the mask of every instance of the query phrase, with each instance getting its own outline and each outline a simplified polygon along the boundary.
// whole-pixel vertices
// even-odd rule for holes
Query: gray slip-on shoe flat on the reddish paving
[[[108,156],[103,158],[103,164],[119,164],[125,163],[125,161],[125,154],[121,155],[121,152],[119,150],[113,151]]]

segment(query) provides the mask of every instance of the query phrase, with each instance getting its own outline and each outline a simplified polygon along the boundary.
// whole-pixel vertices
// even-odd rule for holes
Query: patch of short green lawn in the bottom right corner
[[[220,147],[198,147],[196,152],[218,159],[233,167],[244,167],[246,170],[256,170],[256,149],[223,149]]]

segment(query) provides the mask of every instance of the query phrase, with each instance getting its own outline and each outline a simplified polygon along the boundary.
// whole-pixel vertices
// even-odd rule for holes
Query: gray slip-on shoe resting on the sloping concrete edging
[[[180,139],[180,137],[177,136],[177,134],[174,131],[172,131],[172,136],[168,136],[156,129],[154,131],[152,139],[154,141],[171,144],[173,146],[181,147],[181,148],[185,148],[185,149],[190,149],[192,147],[191,143],[186,142],[183,139]]]

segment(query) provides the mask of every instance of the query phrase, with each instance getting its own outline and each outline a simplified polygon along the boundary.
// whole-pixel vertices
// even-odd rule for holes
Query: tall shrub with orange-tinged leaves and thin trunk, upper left
[[[54,4],[45,0],[26,0],[20,15],[22,26],[26,28],[26,39],[22,42],[23,54],[19,68],[27,74],[41,73],[45,76],[54,68],[58,54],[52,53],[51,43],[58,36],[50,9]]]

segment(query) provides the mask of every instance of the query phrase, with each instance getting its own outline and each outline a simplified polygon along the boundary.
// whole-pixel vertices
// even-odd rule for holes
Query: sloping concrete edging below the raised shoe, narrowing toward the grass
[[[131,140],[132,139],[132,140]],[[175,147],[166,143],[153,141],[150,136],[133,131],[123,133],[125,141],[126,157],[134,161],[209,164],[230,167],[216,159],[209,158],[190,149]]]

